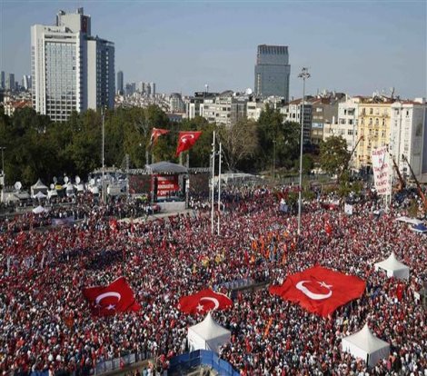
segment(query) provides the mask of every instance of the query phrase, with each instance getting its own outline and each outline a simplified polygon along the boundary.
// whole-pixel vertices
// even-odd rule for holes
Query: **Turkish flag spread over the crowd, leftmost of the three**
[[[141,309],[124,277],[117,278],[108,286],[85,288],[83,295],[95,316],[112,316],[117,312],[136,312]]]

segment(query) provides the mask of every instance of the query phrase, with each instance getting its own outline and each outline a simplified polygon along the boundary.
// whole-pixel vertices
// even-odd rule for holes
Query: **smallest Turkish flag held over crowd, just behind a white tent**
[[[225,310],[233,305],[233,301],[221,292],[205,289],[193,295],[183,296],[179,300],[178,309],[184,313],[205,313],[211,310]]]

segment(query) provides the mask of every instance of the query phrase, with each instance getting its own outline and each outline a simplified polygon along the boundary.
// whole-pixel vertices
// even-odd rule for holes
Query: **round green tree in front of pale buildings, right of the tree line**
[[[331,136],[320,145],[320,164],[326,173],[341,176],[347,167],[350,152],[342,136]]]

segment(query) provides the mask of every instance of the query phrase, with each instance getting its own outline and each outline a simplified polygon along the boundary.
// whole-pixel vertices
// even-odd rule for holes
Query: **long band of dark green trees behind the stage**
[[[150,148],[153,127],[171,132]],[[271,170],[298,171],[300,124],[284,123],[278,110],[267,107],[257,122],[239,120],[231,126],[209,124],[196,117],[171,122],[156,105],[147,108],[117,108],[104,114],[104,163],[120,167],[129,155],[132,168],[143,168],[146,152],[154,161],[178,162],[174,156],[179,131],[202,131],[190,153],[191,167],[208,167],[213,132],[223,143],[225,171],[260,173]],[[64,123],[51,122],[31,108],[11,117],[0,112],[0,146],[5,147],[5,184],[21,181],[29,186],[38,178],[45,183],[54,176],[87,174],[102,164],[102,114],[88,110],[74,113]],[[304,170],[313,158],[304,156]]]

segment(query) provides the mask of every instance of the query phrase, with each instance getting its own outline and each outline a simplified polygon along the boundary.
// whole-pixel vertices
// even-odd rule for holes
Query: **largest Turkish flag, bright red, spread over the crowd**
[[[281,286],[270,286],[269,291],[326,317],[343,304],[360,298],[365,287],[359,277],[316,265],[290,275]]]

